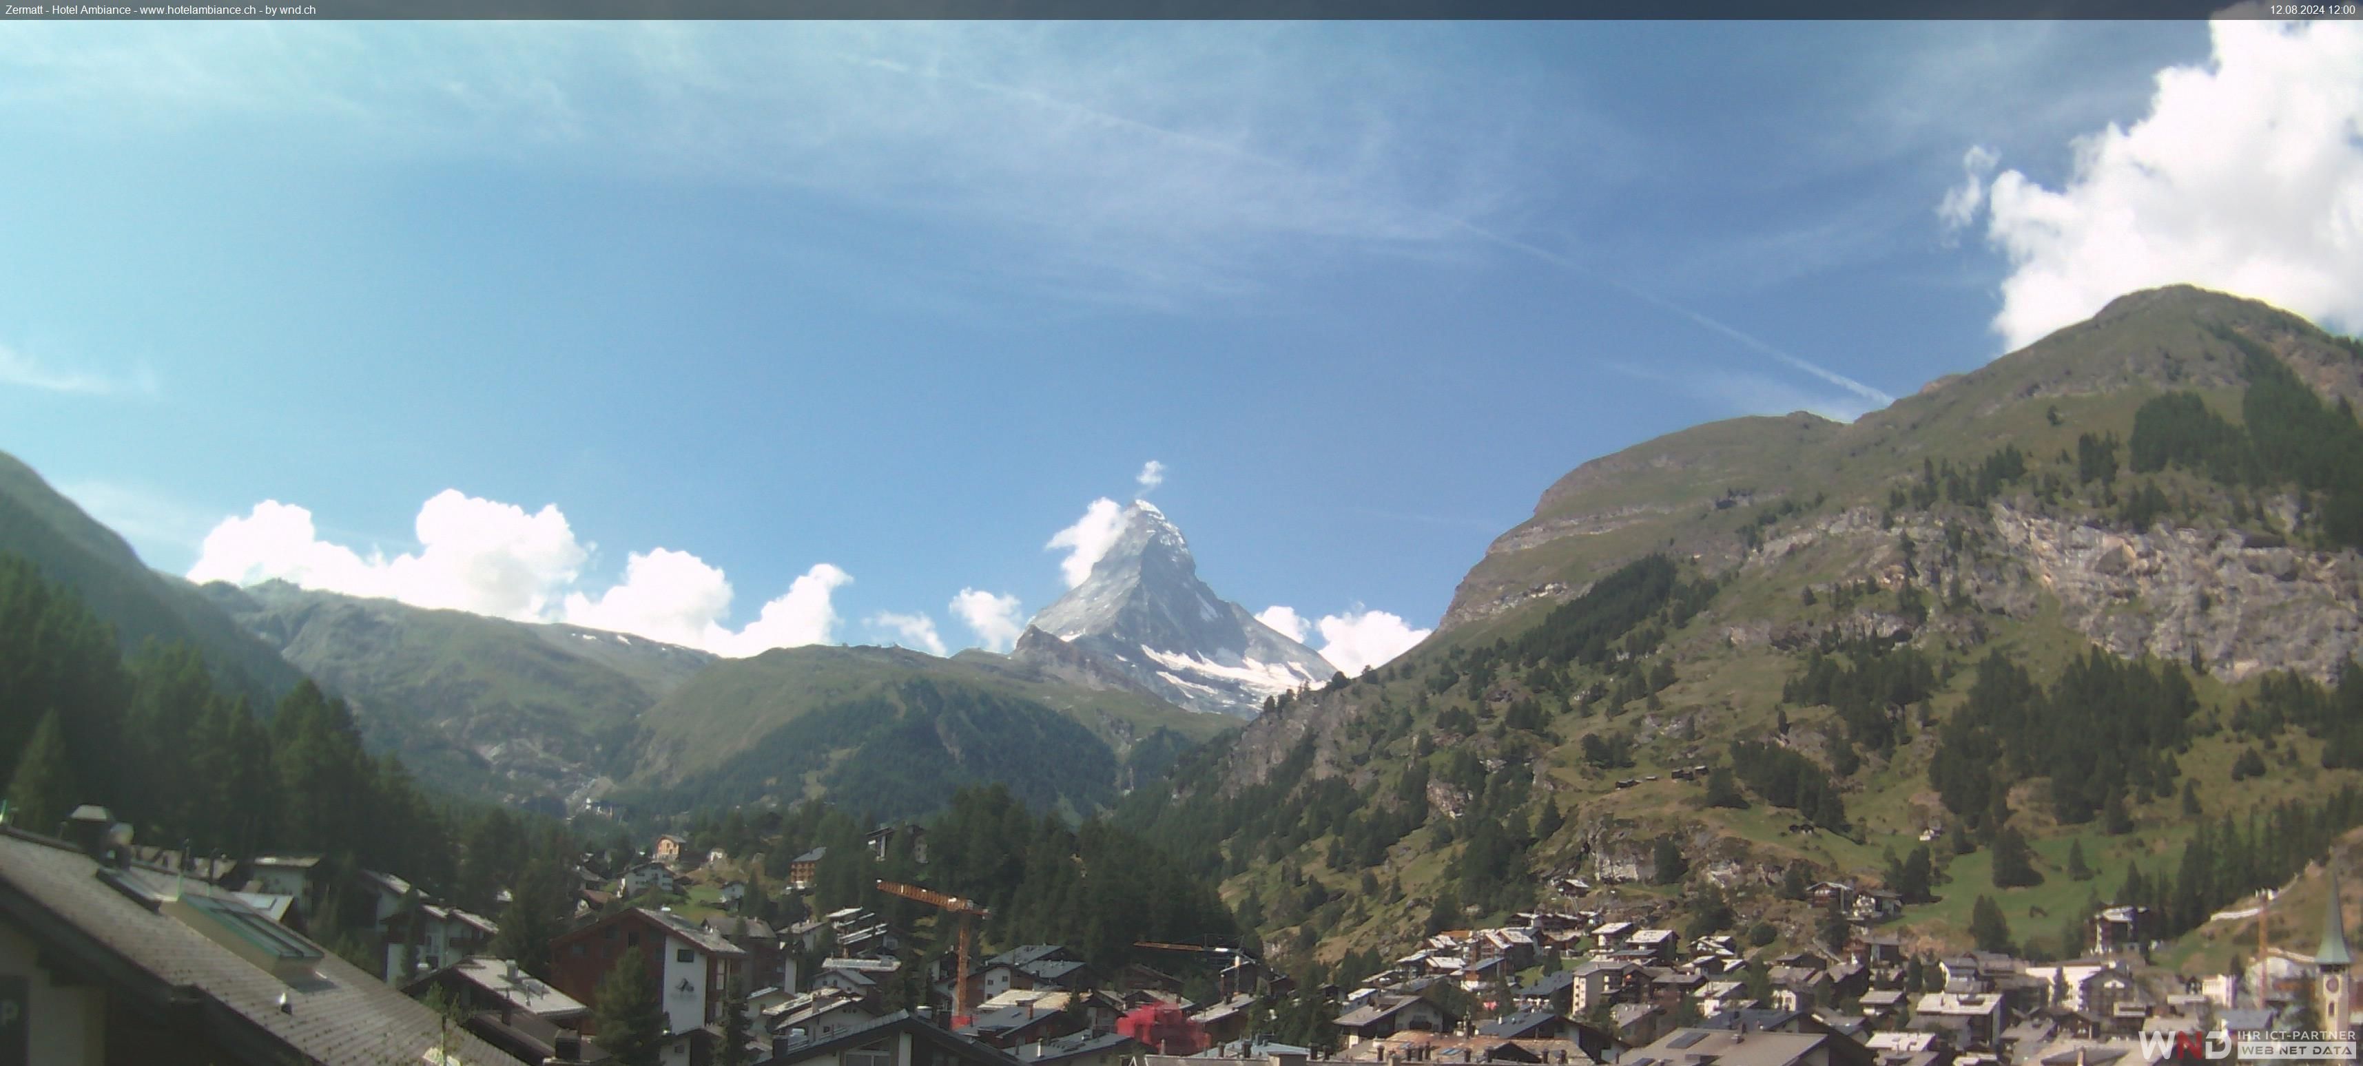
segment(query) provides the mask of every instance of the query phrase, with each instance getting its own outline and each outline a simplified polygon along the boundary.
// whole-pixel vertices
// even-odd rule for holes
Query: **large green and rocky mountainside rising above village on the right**
[[[1423,648],[1184,756],[1122,818],[1326,962],[1609,901],[1560,877],[1801,943],[1820,919],[1779,896],[1789,867],[1893,882],[1928,830],[1907,938],[1961,945],[1994,896],[2061,950],[2200,823],[2363,778],[2363,683],[2320,688],[2363,645],[2356,485],[2320,473],[2363,447],[2356,399],[2351,340],[2165,288],[1850,425],[1638,444],[1552,485]],[[2238,456],[2157,461],[2186,437]]]

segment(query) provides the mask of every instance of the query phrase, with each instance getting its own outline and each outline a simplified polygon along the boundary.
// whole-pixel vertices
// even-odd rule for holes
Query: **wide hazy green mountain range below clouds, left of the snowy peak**
[[[718,659],[284,581],[213,584],[206,596],[352,700],[371,745],[402,752],[447,789],[508,801],[572,804],[629,782],[643,811],[829,794],[853,808],[926,813],[957,782],[997,780],[1028,801],[1094,811],[1224,726],[983,652],[796,648]],[[952,771],[917,789],[900,780],[931,763]]]

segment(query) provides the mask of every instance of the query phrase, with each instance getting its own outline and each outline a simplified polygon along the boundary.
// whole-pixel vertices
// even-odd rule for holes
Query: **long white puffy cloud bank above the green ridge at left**
[[[527,513],[515,503],[444,489],[418,508],[418,551],[362,555],[324,541],[312,511],[262,501],[206,534],[191,581],[258,584],[286,579],[302,589],[449,607],[515,622],[569,622],[636,633],[716,655],[827,643],[837,629],[832,593],[853,581],[820,563],[787,593],[730,629],[728,577],[702,558],[652,548],[631,553],[624,579],[603,591],[574,589],[591,546],[574,537],[555,503]]]

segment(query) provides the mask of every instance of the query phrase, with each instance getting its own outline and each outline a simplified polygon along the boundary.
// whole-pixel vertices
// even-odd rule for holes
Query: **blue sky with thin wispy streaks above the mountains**
[[[962,589],[1056,598],[1044,544],[1146,461],[1224,596],[1432,626],[1586,459],[1997,355],[2044,255],[2006,180],[2098,182],[2077,137],[2212,54],[2205,24],[0,45],[0,449],[151,565],[279,501],[399,593],[456,489],[520,511],[454,506],[447,560],[508,558],[548,506],[572,548],[513,553],[525,598],[406,598],[562,617],[666,548],[733,589],[664,603],[650,567],[673,622],[742,631],[829,565],[825,638],[924,643],[926,615],[948,648],[978,643]],[[1987,180],[1992,220],[1940,217]],[[286,518],[227,570],[286,570]]]

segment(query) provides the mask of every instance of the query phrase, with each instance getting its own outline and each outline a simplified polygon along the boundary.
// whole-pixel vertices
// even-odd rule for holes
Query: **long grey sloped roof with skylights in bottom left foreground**
[[[128,1009],[172,1012],[241,1057],[331,1066],[380,1064],[388,1054],[418,1061],[442,1038],[435,1012],[333,953],[312,960],[310,979],[288,983],[182,924],[142,882],[121,879],[118,889],[99,875],[97,860],[61,841],[0,830],[0,922],[90,967]],[[194,882],[182,893],[246,910]],[[513,1066],[466,1033],[451,1038],[451,1061]]]

